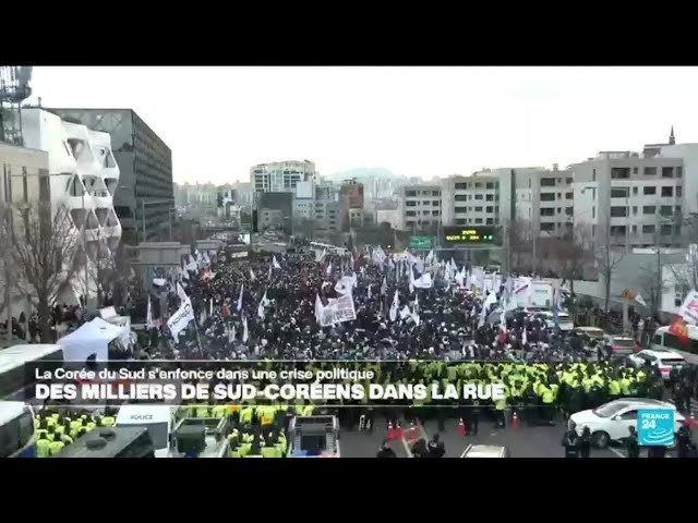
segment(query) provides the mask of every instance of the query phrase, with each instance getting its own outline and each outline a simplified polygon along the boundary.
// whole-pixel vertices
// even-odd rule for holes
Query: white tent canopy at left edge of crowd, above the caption
[[[109,343],[128,335],[124,330],[125,327],[95,318],[58,340],[58,344],[63,348],[63,360],[67,362],[84,362],[93,354],[96,354],[97,361],[106,362],[109,360]]]

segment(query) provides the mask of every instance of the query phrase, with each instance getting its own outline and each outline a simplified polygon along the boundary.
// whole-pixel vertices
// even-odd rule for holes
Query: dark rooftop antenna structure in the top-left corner
[[[32,69],[0,65],[0,142],[23,146],[22,102],[32,96]]]

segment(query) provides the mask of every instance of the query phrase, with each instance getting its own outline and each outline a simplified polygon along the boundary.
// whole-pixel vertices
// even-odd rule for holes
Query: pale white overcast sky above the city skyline
[[[35,68],[46,107],[133,108],[178,182],[309,159],[430,179],[698,142],[698,68]]]

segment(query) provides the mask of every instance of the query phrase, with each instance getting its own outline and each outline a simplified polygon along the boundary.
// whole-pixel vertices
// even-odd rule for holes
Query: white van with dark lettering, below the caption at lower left
[[[171,405],[129,405],[119,409],[117,427],[147,428],[155,447],[156,458],[167,458],[170,435],[177,425],[179,408]]]

